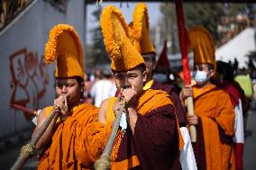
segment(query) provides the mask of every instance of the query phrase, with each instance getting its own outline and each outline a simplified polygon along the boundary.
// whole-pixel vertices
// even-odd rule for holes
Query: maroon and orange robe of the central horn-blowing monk
[[[114,102],[115,98],[108,99],[107,125],[114,121]],[[129,125],[124,135],[118,131],[111,155],[112,169],[138,166],[139,169],[177,169],[175,165],[179,168],[177,153],[183,147],[183,139],[169,94],[152,89],[144,91],[137,97],[134,109],[138,115],[134,135]]]

